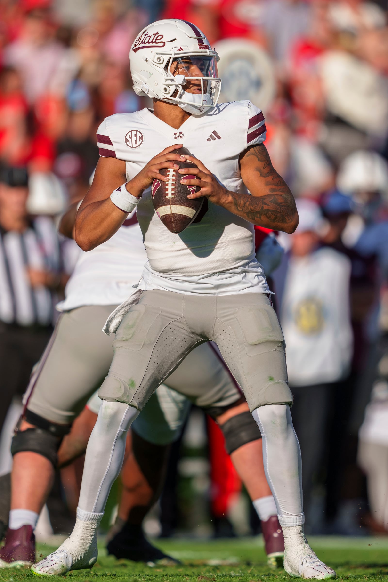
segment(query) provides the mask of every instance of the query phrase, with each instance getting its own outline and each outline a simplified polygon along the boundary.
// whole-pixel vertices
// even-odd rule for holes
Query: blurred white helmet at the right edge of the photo
[[[379,192],[388,196],[388,164],[375,151],[359,150],[348,155],[337,174],[337,188],[344,194]]]

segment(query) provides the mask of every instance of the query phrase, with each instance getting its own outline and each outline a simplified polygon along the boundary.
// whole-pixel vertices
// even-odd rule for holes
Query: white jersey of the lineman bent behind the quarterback
[[[119,305],[133,292],[147,261],[143,237],[132,212],[111,239],[84,253],[65,289],[66,299],[56,306],[69,311],[85,305]]]

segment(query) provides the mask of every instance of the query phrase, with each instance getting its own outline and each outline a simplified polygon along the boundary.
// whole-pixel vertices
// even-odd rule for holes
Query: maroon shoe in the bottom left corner
[[[35,536],[31,526],[7,530],[5,544],[0,548],[0,568],[32,566],[35,562]]]

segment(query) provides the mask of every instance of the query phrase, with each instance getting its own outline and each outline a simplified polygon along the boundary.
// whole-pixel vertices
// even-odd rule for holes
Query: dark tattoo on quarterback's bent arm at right
[[[257,145],[245,155],[255,158],[254,171],[258,172],[260,178],[265,179],[267,194],[247,196],[230,192],[236,210],[245,214],[250,221],[265,221],[273,228],[293,222],[296,215],[294,197],[282,176],[273,168],[265,145]]]

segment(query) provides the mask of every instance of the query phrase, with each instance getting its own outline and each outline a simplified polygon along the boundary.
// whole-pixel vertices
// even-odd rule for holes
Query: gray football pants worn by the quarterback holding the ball
[[[145,291],[119,325],[102,400],[142,410],[152,392],[195,346],[212,340],[250,410],[290,403],[284,338],[263,293],[198,296]]]

